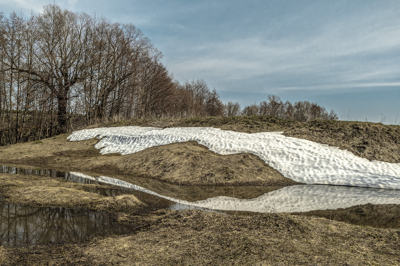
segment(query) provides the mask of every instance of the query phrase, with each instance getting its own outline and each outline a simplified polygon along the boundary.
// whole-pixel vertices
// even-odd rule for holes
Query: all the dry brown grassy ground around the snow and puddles
[[[247,133],[284,131],[286,136],[338,146],[367,159],[400,162],[399,126],[344,121],[300,123],[261,116],[140,119],[98,126],[123,125],[212,126]],[[66,140],[67,136],[0,147],[0,162],[142,175],[154,182],[177,184],[182,191],[185,187],[190,189],[190,185],[223,188],[296,184],[255,155],[218,155],[194,141],[131,155],[101,155],[93,147],[98,140],[72,142]],[[350,221],[351,217],[346,216],[350,210],[325,211],[322,216],[332,220],[313,216],[316,212],[244,216],[157,210],[147,208],[132,196],[99,196],[93,193],[104,189],[99,185],[76,184],[46,175],[3,174],[0,180],[0,193],[8,202],[114,211],[117,222],[134,228],[124,235],[93,237],[81,243],[2,246],[1,265],[400,265],[400,230],[390,228],[390,223],[380,229],[335,220],[342,216]],[[367,217],[387,215],[398,219],[398,205],[355,208]]]

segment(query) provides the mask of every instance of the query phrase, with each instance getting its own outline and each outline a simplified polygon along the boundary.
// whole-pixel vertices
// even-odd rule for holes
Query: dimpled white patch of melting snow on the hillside
[[[338,147],[281,132],[242,133],[212,127],[102,127],[75,131],[71,141],[102,138],[100,152],[129,154],[169,143],[197,141],[219,154],[257,155],[284,177],[306,184],[400,189],[400,164],[369,161]]]

